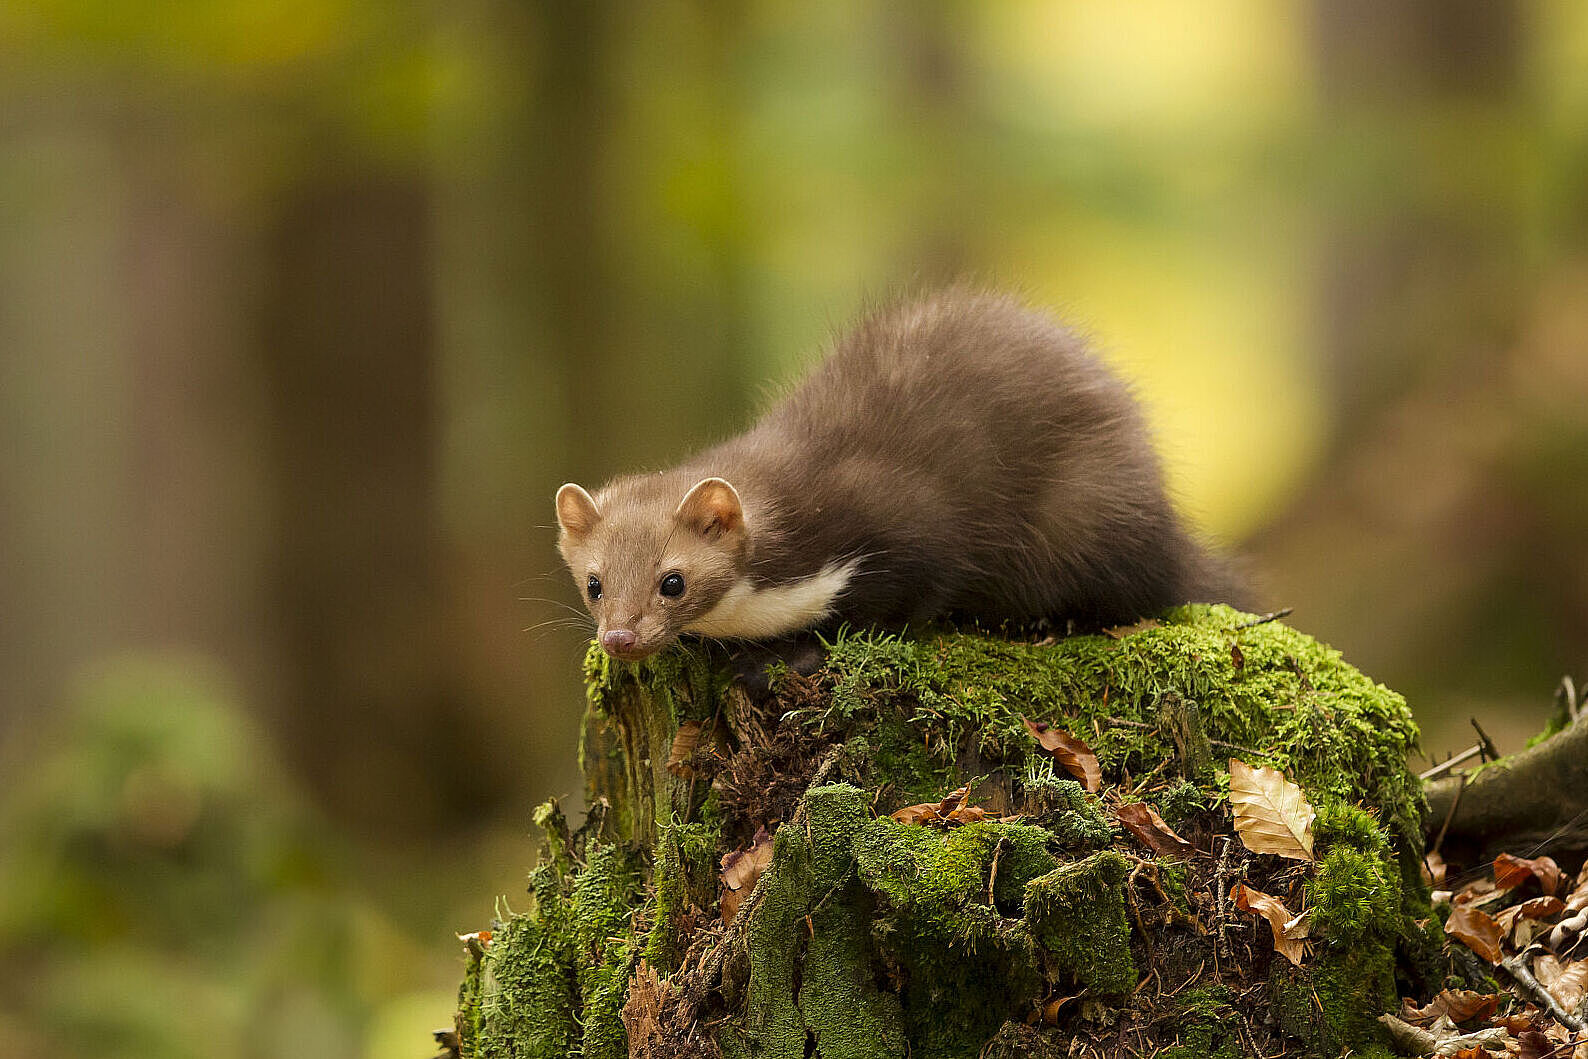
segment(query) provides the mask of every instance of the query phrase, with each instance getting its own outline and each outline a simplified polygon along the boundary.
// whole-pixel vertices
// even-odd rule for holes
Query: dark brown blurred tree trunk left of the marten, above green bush
[[[426,189],[303,187],[265,254],[286,741],[335,811],[434,827],[484,792],[440,619]]]

